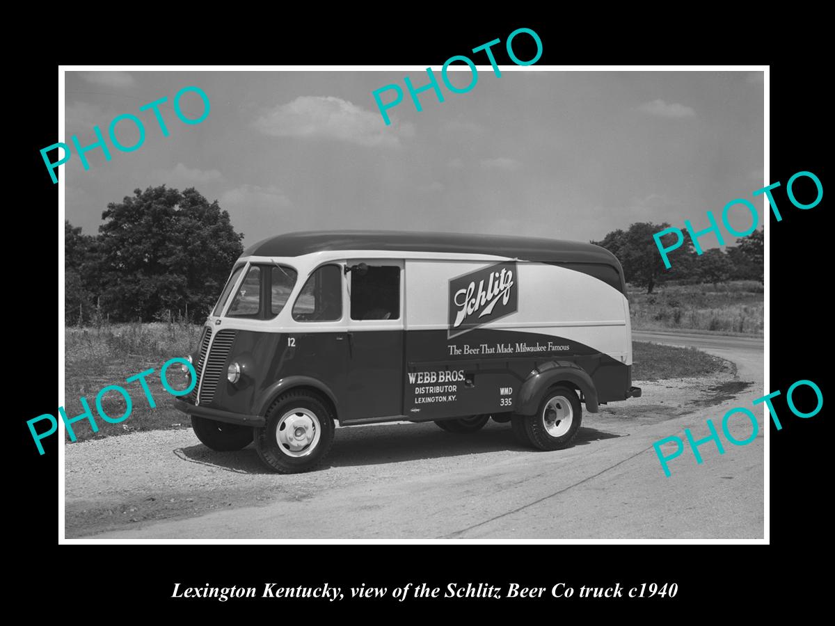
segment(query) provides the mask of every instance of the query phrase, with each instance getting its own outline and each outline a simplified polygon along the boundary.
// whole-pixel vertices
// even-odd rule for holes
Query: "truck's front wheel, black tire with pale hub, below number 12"
[[[308,472],[331,451],[333,416],[318,396],[288,391],[267,411],[266,427],[253,431],[256,452],[267,467],[282,474]]]

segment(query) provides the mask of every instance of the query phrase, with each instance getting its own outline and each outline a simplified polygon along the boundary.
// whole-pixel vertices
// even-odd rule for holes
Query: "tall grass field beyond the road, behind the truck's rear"
[[[661,285],[655,293],[630,287],[635,331],[687,330],[762,336],[763,292],[756,280],[721,285]]]

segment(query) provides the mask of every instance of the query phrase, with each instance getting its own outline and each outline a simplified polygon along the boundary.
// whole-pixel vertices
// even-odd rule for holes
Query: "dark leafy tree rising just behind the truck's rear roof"
[[[666,228],[670,228],[667,223],[635,222],[627,230],[612,230],[602,240],[591,243],[609,250],[620,260],[626,282],[645,286],[646,293],[651,294],[655,285],[671,278],[687,278],[693,268],[693,244],[686,235],[681,248],[669,254],[671,269],[665,268],[652,235]],[[672,233],[661,237],[661,244],[665,246],[675,241]]]

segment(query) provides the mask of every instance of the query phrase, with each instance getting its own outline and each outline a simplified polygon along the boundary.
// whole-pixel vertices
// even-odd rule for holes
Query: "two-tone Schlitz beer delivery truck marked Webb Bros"
[[[640,396],[623,270],[597,245],[414,232],[304,232],[247,248],[175,400],[217,451],[276,472],[326,457],[335,427],[488,420],[525,446],[574,440],[583,406]]]

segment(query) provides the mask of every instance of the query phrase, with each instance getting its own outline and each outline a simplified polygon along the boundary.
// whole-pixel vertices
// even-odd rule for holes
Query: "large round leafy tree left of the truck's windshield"
[[[108,204],[102,219],[102,308],[115,320],[150,320],[186,305],[208,314],[243,251],[229,213],[194,188],[135,189]]]

